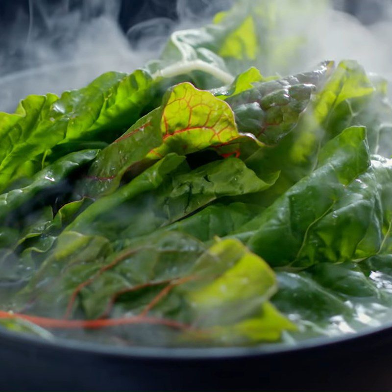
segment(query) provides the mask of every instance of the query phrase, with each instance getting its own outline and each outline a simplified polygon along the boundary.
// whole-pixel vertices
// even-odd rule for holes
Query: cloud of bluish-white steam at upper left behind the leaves
[[[0,110],[12,111],[28,94],[59,94],[106,71],[130,72],[144,63],[147,51],[132,52],[117,24],[120,2],[88,4],[53,8],[49,1],[30,0],[30,17],[19,12],[9,49],[0,52]]]

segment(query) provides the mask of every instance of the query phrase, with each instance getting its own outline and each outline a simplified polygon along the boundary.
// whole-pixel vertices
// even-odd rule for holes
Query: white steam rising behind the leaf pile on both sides
[[[173,30],[206,24],[230,5],[227,0],[178,0],[177,21],[169,9],[166,14],[171,18],[144,20],[143,12],[152,5],[171,6],[170,1],[149,0],[142,14],[133,18],[141,22],[124,33],[117,22],[121,0],[71,3],[63,0],[54,6],[49,0],[30,0],[29,13],[20,11],[5,31],[7,47],[0,51],[0,111],[14,110],[28,94],[59,94],[82,87],[106,71],[131,72],[157,57]],[[310,69],[323,59],[349,58],[392,80],[392,3],[358,1],[360,19],[374,22],[381,16],[370,25],[339,8],[343,9],[330,7],[310,19],[298,14],[298,20],[285,26],[308,42],[306,55],[292,64],[291,71]]]

